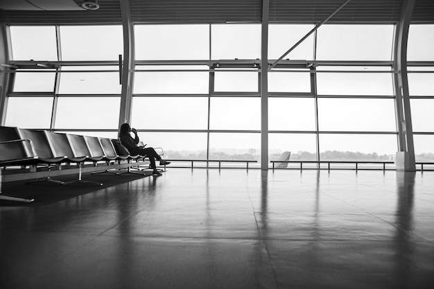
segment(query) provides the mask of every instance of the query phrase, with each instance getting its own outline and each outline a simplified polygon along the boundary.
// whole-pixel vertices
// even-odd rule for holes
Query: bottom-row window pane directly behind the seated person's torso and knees
[[[164,159],[207,158],[205,132],[139,132],[139,138],[147,147],[162,148]]]

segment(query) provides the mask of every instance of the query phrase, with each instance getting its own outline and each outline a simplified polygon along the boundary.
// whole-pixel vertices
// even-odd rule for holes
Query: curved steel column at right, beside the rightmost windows
[[[407,41],[410,19],[415,0],[403,1],[401,19],[395,29],[393,69],[395,92],[395,115],[398,130],[397,170],[415,171],[415,148],[413,144],[413,126],[410,112],[410,92],[407,74]]]

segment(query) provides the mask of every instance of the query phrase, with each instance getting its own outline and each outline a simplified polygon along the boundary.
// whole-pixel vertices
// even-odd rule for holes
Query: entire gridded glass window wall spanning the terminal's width
[[[270,24],[274,62],[313,25]],[[268,73],[269,159],[397,151],[392,25],[325,24]],[[433,160],[434,26],[412,25],[417,161]],[[116,137],[121,26],[10,26],[5,125]],[[131,125],[168,159],[260,159],[259,24],[134,25]],[[316,166],[316,164],[315,164]]]

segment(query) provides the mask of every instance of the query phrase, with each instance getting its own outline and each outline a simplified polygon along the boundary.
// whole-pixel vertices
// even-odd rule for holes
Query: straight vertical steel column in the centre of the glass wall
[[[262,1],[261,24],[261,170],[268,170],[268,18],[270,0]]]

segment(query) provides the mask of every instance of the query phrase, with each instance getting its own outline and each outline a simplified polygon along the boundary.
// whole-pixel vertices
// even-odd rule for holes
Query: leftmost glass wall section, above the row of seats
[[[5,125],[116,137],[122,26],[11,26],[10,42],[26,69],[12,77]]]

